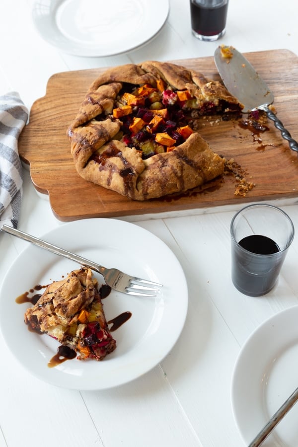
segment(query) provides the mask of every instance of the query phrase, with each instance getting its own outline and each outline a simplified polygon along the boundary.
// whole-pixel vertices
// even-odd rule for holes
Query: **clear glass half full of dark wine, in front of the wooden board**
[[[277,283],[294,225],[280,208],[248,205],[230,224],[231,276],[235,288],[250,297],[270,292]]]

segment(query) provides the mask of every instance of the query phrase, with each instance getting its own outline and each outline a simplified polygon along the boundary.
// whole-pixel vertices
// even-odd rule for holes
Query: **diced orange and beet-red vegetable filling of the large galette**
[[[174,91],[162,79],[157,81],[156,88],[145,84],[127,91],[128,85],[123,86],[112,111],[111,118],[122,122],[121,131],[114,139],[140,150],[143,159],[169,152],[184,143],[193,133],[188,124],[193,109],[199,115],[211,115],[223,107],[213,102],[199,103],[188,90]]]

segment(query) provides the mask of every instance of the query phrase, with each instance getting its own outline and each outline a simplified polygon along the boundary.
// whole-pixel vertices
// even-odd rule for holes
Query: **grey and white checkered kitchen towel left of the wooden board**
[[[18,93],[0,96],[0,227],[18,224],[23,178],[17,141],[27,119]]]

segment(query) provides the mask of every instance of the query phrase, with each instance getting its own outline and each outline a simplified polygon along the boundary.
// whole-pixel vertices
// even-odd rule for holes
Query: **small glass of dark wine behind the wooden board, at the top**
[[[192,33],[200,40],[214,41],[225,33],[228,0],[190,0]]]

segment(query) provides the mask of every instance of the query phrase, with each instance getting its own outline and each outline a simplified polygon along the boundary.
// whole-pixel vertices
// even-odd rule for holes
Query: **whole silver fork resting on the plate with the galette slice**
[[[127,275],[118,269],[107,269],[102,265],[96,264],[93,261],[82,258],[70,251],[64,250],[63,248],[56,247],[42,239],[38,239],[31,234],[24,233],[12,226],[3,224],[1,231],[17,236],[20,239],[27,240],[28,242],[37,245],[38,247],[44,248],[45,250],[51,251],[52,253],[58,254],[59,256],[64,256],[65,258],[71,259],[72,261],[78,262],[79,264],[89,267],[91,270],[100,273],[108,286],[118,292],[123,292],[128,295],[137,295],[139,297],[156,297],[154,292],[160,292],[161,284],[154,283],[152,281],[147,281],[142,278],[137,278],[135,276]],[[148,293],[147,293],[148,292]]]

